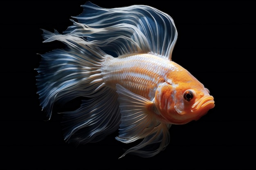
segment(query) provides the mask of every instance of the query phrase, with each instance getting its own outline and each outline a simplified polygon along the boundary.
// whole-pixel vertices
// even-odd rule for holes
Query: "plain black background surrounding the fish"
[[[36,94],[43,44],[79,15],[77,1],[1,1],[0,169],[228,169],[256,168],[255,9],[253,1],[99,1],[112,8],[147,4],[172,16],[178,31],[173,61],[211,91],[216,106],[198,121],[173,125],[171,142],[155,157],[122,155],[115,140],[73,146],[63,141],[60,116],[45,121]]]

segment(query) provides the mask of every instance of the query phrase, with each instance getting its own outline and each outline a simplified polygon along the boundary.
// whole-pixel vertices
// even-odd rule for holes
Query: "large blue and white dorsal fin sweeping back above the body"
[[[173,19],[146,5],[112,9],[86,2],[83,13],[64,33],[83,37],[103,51],[119,56],[128,53],[154,53],[171,60],[177,40]]]

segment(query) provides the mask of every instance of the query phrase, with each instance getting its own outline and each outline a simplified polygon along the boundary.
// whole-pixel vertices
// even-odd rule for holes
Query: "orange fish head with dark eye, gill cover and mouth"
[[[170,124],[186,124],[198,120],[215,106],[207,88],[199,82],[191,84],[173,87],[164,82],[159,85],[155,95],[159,119]]]

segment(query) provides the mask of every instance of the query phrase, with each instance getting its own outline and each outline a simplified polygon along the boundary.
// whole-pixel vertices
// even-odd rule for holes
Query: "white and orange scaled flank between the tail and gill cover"
[[[174,64],[157,55],[131,54],[106,59],[102,62],[101,73],[107,86],[115,88],[120,84],[151,101],[157,86],[167,78],[168,71],[175,69]]]

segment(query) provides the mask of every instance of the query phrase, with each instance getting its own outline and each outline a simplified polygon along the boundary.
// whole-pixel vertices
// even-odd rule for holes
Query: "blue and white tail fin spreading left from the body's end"
[[[86,45],[81,38],[43,31],[45,42],[59,40],[68,46],[41,55],[40,66],[36,68],[40,104],[50,119],[55,102],[65,104],[76,97],[99,95],[97,91],[104,86],[101,61],[106,53]]]

